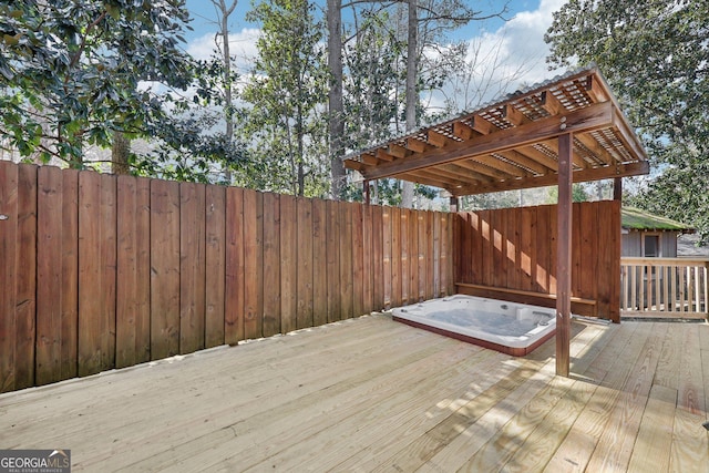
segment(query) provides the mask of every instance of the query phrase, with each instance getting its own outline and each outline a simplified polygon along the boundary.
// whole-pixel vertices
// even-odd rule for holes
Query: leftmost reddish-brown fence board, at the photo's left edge
[[[17,290],[18,290],[18,166],[0,161],[0,392],[20,389],[16,379],[18,341],[17,327]],[[32,345],[32,349],[34,345]],[[32,360],[33,353],[19,353]],[[33,374],[33,371],[32,371]]]

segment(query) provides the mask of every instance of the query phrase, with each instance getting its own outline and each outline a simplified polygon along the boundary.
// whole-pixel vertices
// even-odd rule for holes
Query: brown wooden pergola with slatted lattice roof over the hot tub
[[[474,112],[347,156],[369,182],[386,177],[458,197],[558,185],[556,372],[568,376],[572,184],[648,174],[643,145],[597,68],[568,72]]]

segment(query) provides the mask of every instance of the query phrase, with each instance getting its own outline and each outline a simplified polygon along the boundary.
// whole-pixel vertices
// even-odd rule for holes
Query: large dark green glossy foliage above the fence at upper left
[[[198,66],[179,45],[188,20],[184,0],[1,1],[1,145],[82,167],[85,147],[110,146],[113,132],[156,138],[154,161],[133,156],[142,173],[172,166],[176,152],[197,161],[223,152],[176,123]]]

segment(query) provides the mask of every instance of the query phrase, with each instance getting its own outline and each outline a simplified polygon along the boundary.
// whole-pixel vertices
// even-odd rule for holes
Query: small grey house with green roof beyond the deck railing
[[[621,256],[677,257],[677,238],[693,234],[689,225],[635,207],[620,209]]]

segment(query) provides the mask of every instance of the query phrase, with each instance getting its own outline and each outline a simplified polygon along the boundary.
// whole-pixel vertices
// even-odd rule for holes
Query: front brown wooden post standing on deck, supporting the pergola
[[[572,312],[572,134],[558,137],[556,257],[556,374],[568,377]]]

